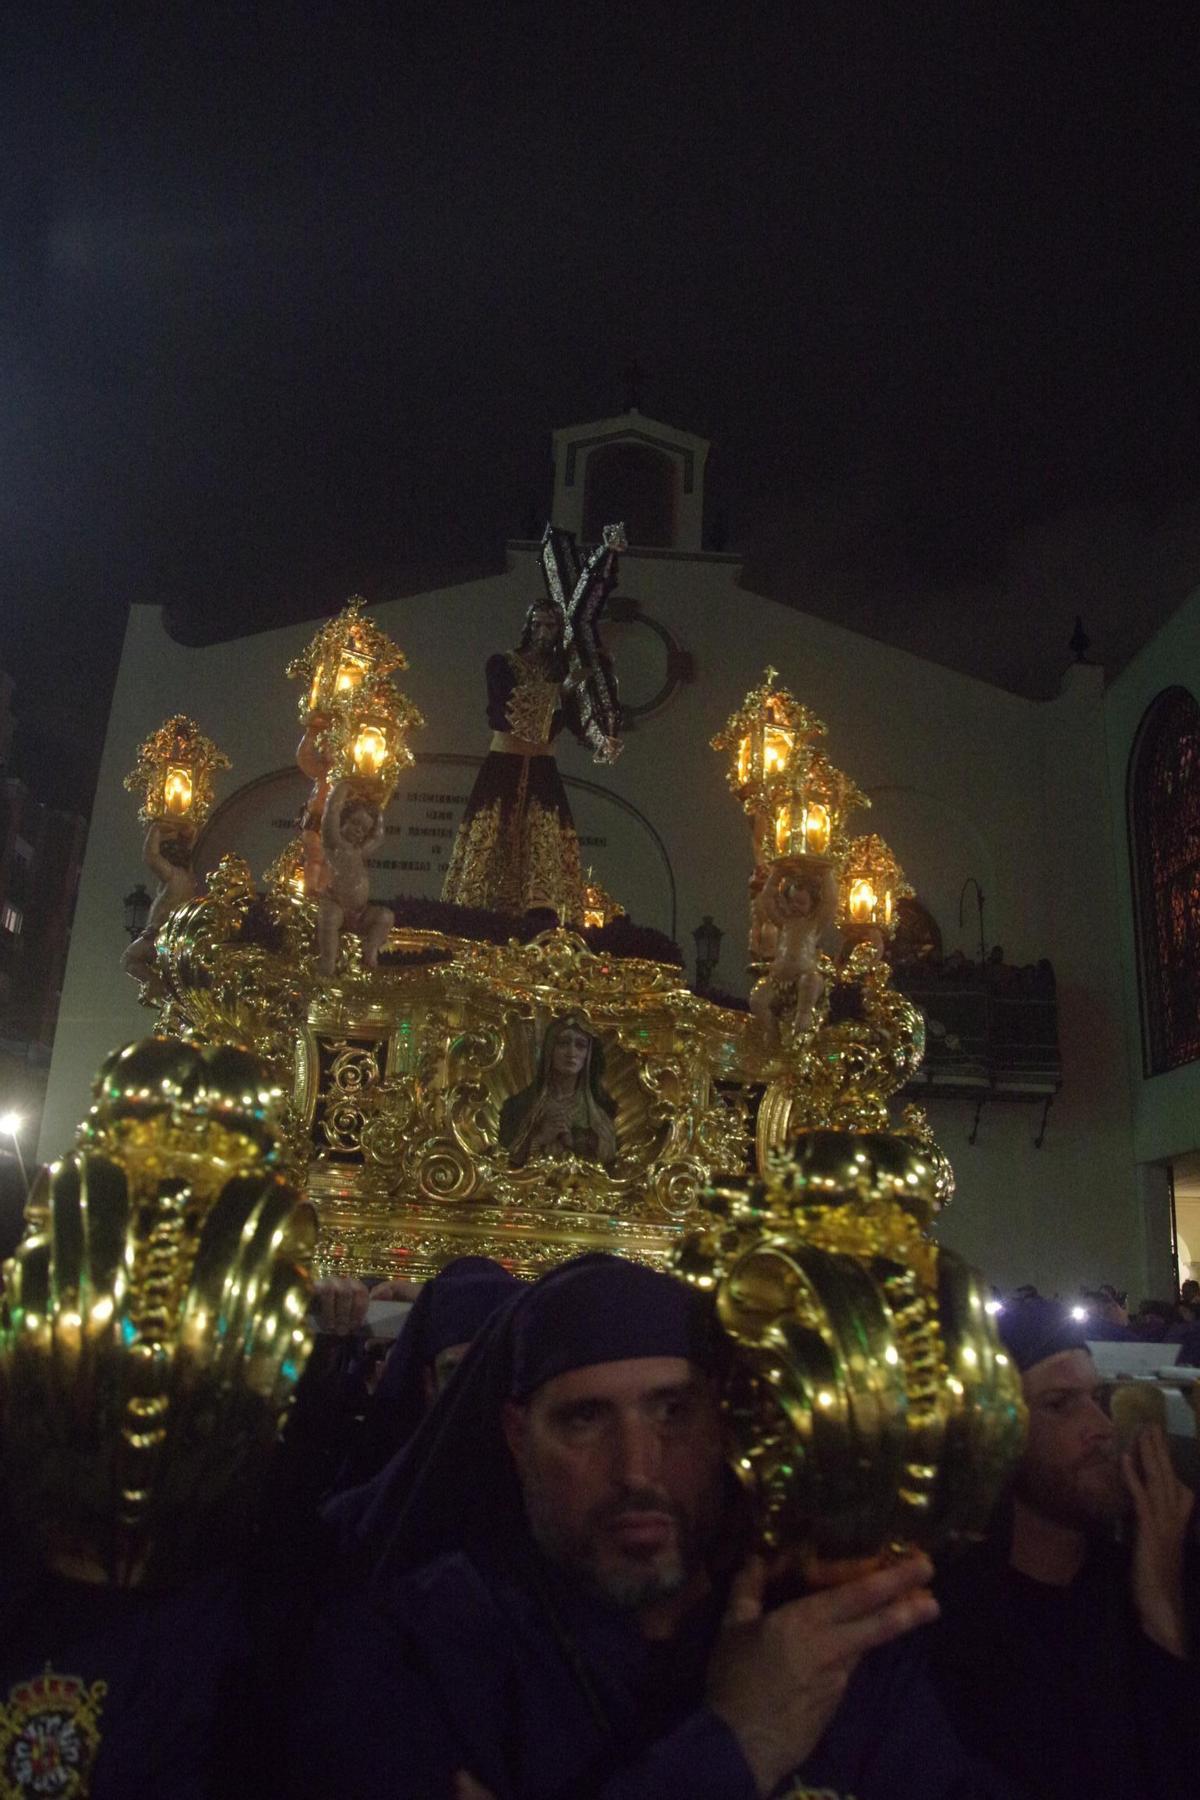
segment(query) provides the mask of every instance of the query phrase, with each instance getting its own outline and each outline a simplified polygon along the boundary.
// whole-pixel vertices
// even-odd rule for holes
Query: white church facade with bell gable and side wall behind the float
[[[1061,1091],[1049,1114],[1038,1103],[979,1105],[979,1094],[941,1093],[928,1105],[957,1175],[941,1237],[1000,1285],[1065,1292],[1112,1280],[1168,1292],[1168,1165],[1200,1147],[1200,1064],[1146,1073],[1137,952],[1146,895],[1130,859],[1126,776],[1155,698],[1200,684],[1200,598],[1112,684],[1076,664],[1054,700],[1025,700],[750,592],[736,556],[702,547],[705,457],[703,439],[640,412],[554,434],[554,524],[588,542],[624,518],[630,538],[604,630],[628,713],[624,754],[597,769],[574,743],[560,752],[585,864],[639,923],[687,952],[711,916],[725,934],[712,983],[745,994],[750,841],[709,740],[774,664],[871,797],[851,828],[887,839],[943,950],[979,961],[972,896],[982,891],[984,949],[1002,945],[1006,965],[1054,968]],[[488,749],[486,659],[516,643],[542,592],[534,542],[511,542],[506,563],[484,580],[372,603],[408,657],[401,682],[426,720],[374,857],[380,898],[441,891]],[[329,612],[344,598],[331,594]],[[282,671],[311,630],[306,621],[191,648],[171,637],[160,608],[131,608],[43,1156],[70,1141],[103,1057],[146,1030],[119,968],[122,895],[140,868],[140,826],[122,788],[137,743],[169,713],[191,715],[219,743],[232,772],[198,868],[234,850],[261,873],[295,833],[304,797],[295,691]]]

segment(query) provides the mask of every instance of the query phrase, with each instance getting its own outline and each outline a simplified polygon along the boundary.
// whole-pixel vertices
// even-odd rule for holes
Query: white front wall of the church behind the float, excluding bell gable
[[[423,860],[405,853],[408,844],[432,844],[444,855],[448,835],[417,839],[408,830],[450,833],[459,805],[437,805],[437,796],[466,796],[473,760],[486,752],[486,657],[516,639],[524,607],[540,592],[533,549],[513,547],[511,565],[484,581],[372,608],[407,652],[410,668],[399,684],[428,720],[414,736],[425,760],[405,776],[389,814],[394,833],[383,855],[394,862]],[[637,724],[612,769],[597,769],[572,740],[560,749],[565,778],[587,783],[572,792],[581,833],[604,839],[585,848],[599,878],[640,922],[662,931],[675,925],[689,959],[693,927],[712,914],[725,931],[714,981],[745,992],[748,832],[727,790],[723,758],[709,749],[709,738],[761,680],[765,664],[774,662],[829,725],[826,743],[833,761],[873,794],[874,810],[856,824],[876,828],[892,842],[937,918],[946,950],[979,952],[970,898],[964,923],[957,922],[963,882],[975,877],[986,895],[988,943],[1002,943],[1015,963],[1049,956],[1065,988],[1076,986],[1081,995],[1074,1010],[1065,1010],[1065,1019],[1070,1013],[1076,1021],[1065,1026],[1067,1085],[1043,1150],[1031,1148],[1033,1109],[1007,1109],[1009,1121],[995,1107],[979,1143],[957,1152],[970,1118],[961,1123],[963,1114],[950,1109],[948,1148],[961,1165],[961,1197],[946,1219],[946,1242],[961,1244],[986,1267],[1036,1280],[1040,1265],[1058,1253],[1063,1233],[1054,1220],[1065,1208],[1078,1208],[1085,1215],[1079,1255],[1088,1269],[1103,1267],[1108,1278],[1117,1278],[1123,1231],[1128,1237],[1123,1213],[1128,1147],[1123,1154],[1119,1114],[1105,1085],[1108,1076],[1097,1075],[1103,1057],[1099,1051],[1092,1057],[1088,1028],[1088,1008],[1103,1006],[1103,983],[1097,985],[1090,961],[1105,959],[1096,949],[1103,929],[1087,913],[1085,895],[1076,895],[1060,916],[1056,889],[1045,875],[1054,842],[1070,841],[1070,821],[1063,817],[1070,801],[1060,794],[1052,817],[1045,808],[1047,709],[750,594],[736,585],[729,558],[631,553],[622,560],[621,594],[635,598],[691,653],[696,679]],[[117,967],[124,943],[121,896],[142,873],[140,826],[121,785],[137,743],[169,713],[187,711],[234,761],[221,778],[221,796],[286,770],[299,716],[297,689],[282,670],[313,630],[309,621],[236,643],[185,648],[169,637],[157,608],[133,608],[88,837],[43,1154],[56,1154],[68,1141],[103,1057],[149,1024]],[[635,673],[630,691],[644,697],[657,682],[662,655],[653,634],[644,626],[615,626],[612,641],[626,659],[626,673]],[[1061,731],[1070,736],[1076,729],[1083,731],[1083,724],[1063,715]],[[1063,783],[1070,785],[1067,776]],[[293,799],[272,814],[281,821],[279,844],[288,835],[290,805]],[[453,817],[435,817],[446,812]],[[675,920],[655,835],[675,877]],[[261,866],[266,860],[263,855]],[[1052,860],[1049,866],[1054,868]],[[435,869],[414,871],[407,878],[389,869],[380,871],[374,886],[390,895],[435,875]],[[1087,887],[1083,875],[1078,886]],[[1079,920],[1088,923],[1081,927]]]

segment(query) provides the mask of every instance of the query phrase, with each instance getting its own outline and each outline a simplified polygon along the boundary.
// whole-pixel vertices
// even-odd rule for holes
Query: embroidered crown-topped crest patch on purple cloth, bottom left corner
[[[0,1706],[0,1800],[83,1800],[101,1748],[106,1681],[56,1676],[18,1681]]]

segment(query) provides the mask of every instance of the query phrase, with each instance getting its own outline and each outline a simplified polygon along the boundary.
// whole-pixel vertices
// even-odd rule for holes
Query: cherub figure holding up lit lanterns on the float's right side
[[[808,1031],[824,994],[820,936],[837,918],[837,880],[828,862],[775,862],[754,898],[752,947],[768,956],[766,974],[750,994],[750,1012],[774,1049],[781,1022],[792,1012],[792,1030]]]

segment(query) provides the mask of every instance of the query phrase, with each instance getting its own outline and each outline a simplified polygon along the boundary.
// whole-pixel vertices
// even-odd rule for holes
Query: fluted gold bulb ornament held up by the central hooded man
[[[707,1190],[676,1251],[734,1343],[736,1467],[766,1541],[819,1577],[977,1535],[1020,1451],[982,1282],[928,1238],[939,1181],[912,1139],[806,1130],[765,1179]]]

